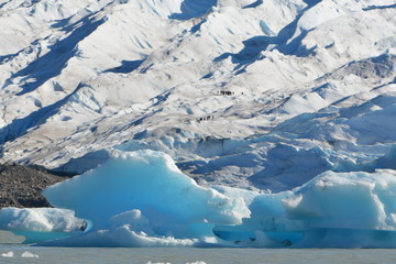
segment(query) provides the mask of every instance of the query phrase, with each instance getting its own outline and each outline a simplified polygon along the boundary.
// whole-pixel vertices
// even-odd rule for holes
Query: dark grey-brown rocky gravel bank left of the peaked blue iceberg
[[[0,208],[50,207],[42,196],[47,186],[65,180],[44,169],[15,164],[0,165]]]

